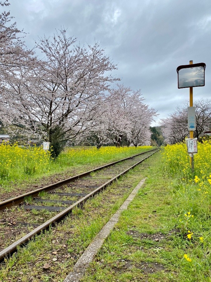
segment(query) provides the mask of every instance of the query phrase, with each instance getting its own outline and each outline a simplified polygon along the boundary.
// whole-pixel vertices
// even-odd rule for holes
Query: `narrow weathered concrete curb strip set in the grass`
[[[77,263],[73,266],[73,271],[63,280],[63,282],[79,282],[85,274],[89,264],[94,260],[96,254],[101,249],[104,241],[108,238],[110,232],[113,230],[115,224],[118,223],[118,219],[121,212],[128,208],[129,203],[134,199],[138,190],[143,185],[144,181],[141,180],[138,185],[133,189],[128,198],[124,201],[118,211],[112,216],[112,218],[106,223],[106,225],[100,230],[92,242],[88,245],[87,249],[83,252],[82,256],[78,259]]]

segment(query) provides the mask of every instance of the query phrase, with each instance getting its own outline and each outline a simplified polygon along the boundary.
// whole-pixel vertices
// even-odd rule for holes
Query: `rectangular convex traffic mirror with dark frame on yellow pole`
[[[179,65],[178,73],[178,88],[204,86],[204,63],[192,65]]]

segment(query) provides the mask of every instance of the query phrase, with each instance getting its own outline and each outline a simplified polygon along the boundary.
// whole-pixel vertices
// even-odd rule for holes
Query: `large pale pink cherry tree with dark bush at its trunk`
[[[118,80],[108,74],[116,66],[98,43],[76,45],[64,29],[40,38],[37,48],[42,60],[4,74],[0,119],[52,144],[75,140],[92,128],[98,100]]]

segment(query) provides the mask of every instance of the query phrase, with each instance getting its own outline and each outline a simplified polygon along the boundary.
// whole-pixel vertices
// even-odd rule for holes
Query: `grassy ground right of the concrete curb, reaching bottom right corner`
[[[167,153],[164,159],[156,154],[146,184],[122,213],[83,282],[211,281],[210,211],[198,201],[195,181],[187,182],[182,173],[172,176]],[[181,157],[172,156],[175,168]]]

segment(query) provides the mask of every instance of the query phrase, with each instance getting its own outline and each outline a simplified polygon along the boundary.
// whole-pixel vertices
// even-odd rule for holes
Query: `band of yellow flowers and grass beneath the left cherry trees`
[[[35,178],[44,174],[62,171],[67,167],[83,164],[97,165],[132,156],[149,149],[142,147],[69,148],[54,161],[49,151],[42,147],[21,148],[8,143],[0,144],[0,190],[7,189],[13,182]]]

